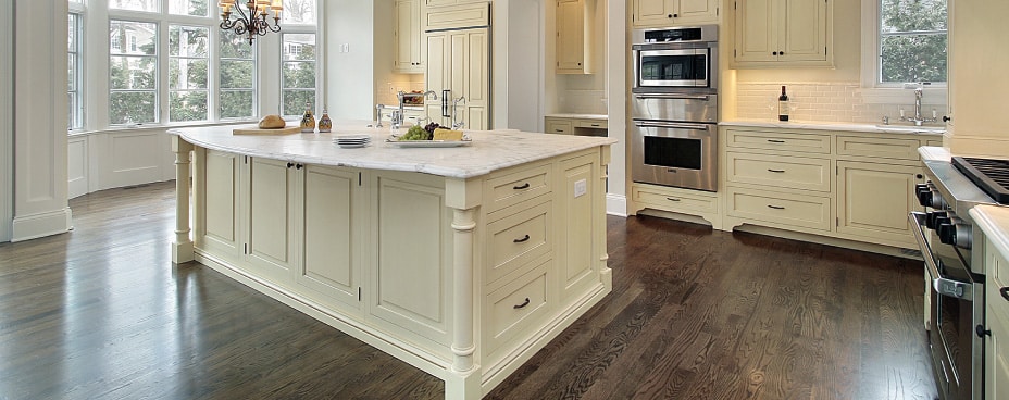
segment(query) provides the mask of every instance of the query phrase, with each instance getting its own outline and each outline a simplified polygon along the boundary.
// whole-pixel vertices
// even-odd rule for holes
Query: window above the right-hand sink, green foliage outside
[[[865,35],[863,86],[900,87],[909,82],[946,82],[946,0],[864,0],[875,37]],[[871,52],[870,52],[871,51]],[[868,59],[868,58],[867,58]],[[869,79],[871,77],[871,79]]]

